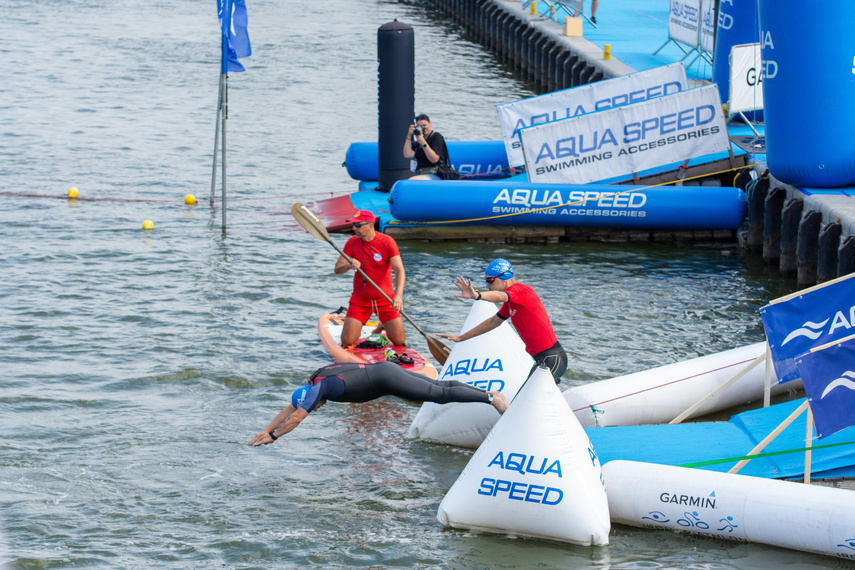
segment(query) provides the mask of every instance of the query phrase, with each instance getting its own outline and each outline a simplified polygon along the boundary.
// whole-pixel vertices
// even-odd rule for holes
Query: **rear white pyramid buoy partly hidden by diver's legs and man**
[[[495,314],[493,303],[475,301],[461,333]],[[499,391],[510,402],[532,366],[534,359],[525,351],[522,339],[505,323],[454,345],[437,379],[457,380],[484,390]],[[425,402],[407,436],[474,449],[481,445],[498,419],[499,413],[492,406]]]

